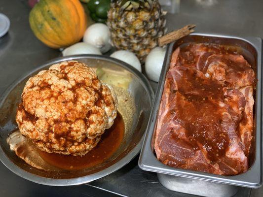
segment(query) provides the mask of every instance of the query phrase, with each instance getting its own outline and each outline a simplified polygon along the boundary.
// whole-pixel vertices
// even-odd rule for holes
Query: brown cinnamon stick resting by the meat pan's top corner
[[[190,33],[194,32],[193,28],[195,28],[195,25],[191,24],[181,28],[180,30],[167,33],[166,35],[163,35],[162,37],[158,38],[158,45],[163,46],[165,44],[169,44],[170,42],[178,40],[186,35],[189,35]]]

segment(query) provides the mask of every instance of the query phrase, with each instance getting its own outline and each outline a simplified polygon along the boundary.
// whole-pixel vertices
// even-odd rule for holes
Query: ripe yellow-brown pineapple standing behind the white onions
[[[135,53],[144,63],[166,31],[165,14],[158,0],[113,0],[107,22],[113,45]]]

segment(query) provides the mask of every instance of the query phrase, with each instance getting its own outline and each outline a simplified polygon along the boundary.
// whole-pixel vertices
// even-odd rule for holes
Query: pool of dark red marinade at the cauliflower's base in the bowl
[[[124,130],[123,118],[117,113],[113,126],[102,134],[100,143],[83,156],[62,155],[37,150],[45,162],[61,169],[79,170],[94,167],[107,161],[119,148],[124,136]]]

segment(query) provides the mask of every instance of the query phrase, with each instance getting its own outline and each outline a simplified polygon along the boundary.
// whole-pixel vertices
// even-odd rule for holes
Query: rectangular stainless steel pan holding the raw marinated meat
[[[180,169],[180,168],[173,168],[168,165],[162,164],[157,160],[155,156],[153,149],[153,142],[155,137],[154,131],[156,126],[156,118],[157,118],[159,104],[163,92],[166,72],[170,65],[171,55],[172,52],[175,50],[175,48],[177,48],[179,45],[187,44],[189,42],[216,43],[216,44],[223,44],[233,47],[233,49],[237,50],[239,54],[244,56],[244,58],[252,65],[253,69],[256,71],[258,82],[256,86],[255,115],[254,115],[255,153],[254,155],[251,156],[252,161],[250,168],[245,173],[233,175],[233,176],[223,176],[223,175],[215,175],[215,174],[203,173],[203,172]],[[223,183],[233,186],[259,188],[262,186],[262,112],[261,111],[262,111],[262,39],[257,37],[234,37],[234,36],[219,35],[219,34],[192,33],[180,40],[177,40],[176,42],[169,44],[169,46],[167,47],[166,57],[161,71],[160,80],[154,100],[154,105],[151,111],[148,129],[138,164],[140,168],[143,170],[160,173],[158,174],[159,180],[166,187],[169,187],[169,184],[172,185],[172,182],[170,179],[171,176],[166,176],[166,178],[165,177],[160,178],[160,176],[165,176],[164,174],[173,175],[174,180],[176,179],[176,177],[180,176],[189,179],[204,180],[206,181],[207,184]],[[186,182],[186,180],[184,179],[183,181]],[[194,187],[194,185],[191,184],[190,186]],[[209,188],[211,189],[211,187]],[[204,187],[203,188],[204,192],[209,188]],[[168,189],[174,190],[173,187],[170,187]],[[184,190],[183,188],[180,189],[182,190],[181,192],[190,193],[188,190]],[[194,188],[192,188],[191,190],[194,190]],[[197,193],[191,193],[191,194],[197,194]],[[203,194],[199,194],[199,195],[205,196]]]

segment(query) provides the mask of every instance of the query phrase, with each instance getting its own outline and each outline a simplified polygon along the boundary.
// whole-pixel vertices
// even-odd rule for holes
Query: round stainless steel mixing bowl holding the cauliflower
[[[118,150],[104,163],[94,167],[69,171],[44,171],[32,167],[10,150],[6,142],[8,135],[17,128],[15,113],[17,103],[23,87],[30,76],[40,70],[67,60],[83,62],[103,72],[103,81],[118,86],[125,94],[129,94],[133,101],[133,112],[125,110],[127,104],[120,98],[119,107],[121,115],[128,120],[125,125],[125,134]],[[122,82],[120,82],[122,80]],[[146,131],[150,110],[152,108],[153,91],[146,77],[132,66],[116,59],[99,55],[77,55],[57,58],[38,66],[37,69],[25,74],[14,82],[0,99],[0,160],[11,171],[30,181],[53,186],[66,186],[88,183],[118,170],[129,163],[141,150],[144,132]],[[129,111],[129,114],[126,114]]]

